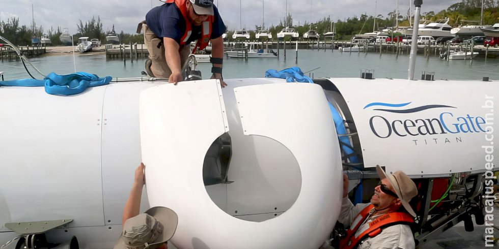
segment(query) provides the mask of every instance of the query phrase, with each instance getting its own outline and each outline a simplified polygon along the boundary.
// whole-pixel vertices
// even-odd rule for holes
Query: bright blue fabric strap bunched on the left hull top
[[[51,95],[76,95],[88,87],[107,85],[113,78],[106,76],[99,78],[95,74],[78,72],[66,75],[48,74],[43,80],[19,79],[0,81],[0,86],[45,86],[45,92]]]

